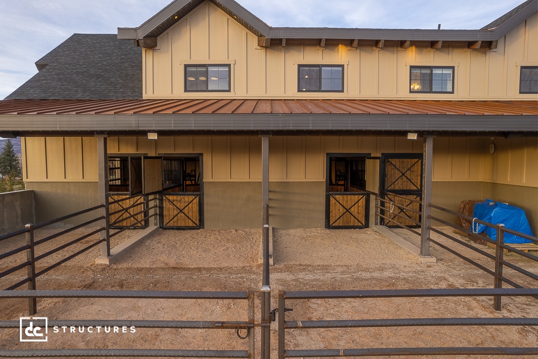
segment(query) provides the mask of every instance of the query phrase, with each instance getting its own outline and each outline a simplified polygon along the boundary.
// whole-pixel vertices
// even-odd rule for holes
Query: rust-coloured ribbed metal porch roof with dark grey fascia
[[[0,135],[538,134],[538,101],[4,100]]]

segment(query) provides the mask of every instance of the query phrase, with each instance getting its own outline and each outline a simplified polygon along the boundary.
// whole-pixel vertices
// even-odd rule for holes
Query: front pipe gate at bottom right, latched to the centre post
[[[364,291],[280,291],[278,295],[278,357],[341,357],[341,356],[426,356],[426,355],[536,355],[538,347],[420,347],[420,348],[338,348],[338,349],[287,349],[286,330],[335,328],[398,328],[447,326],[538,326],[536,317],[444,317],[406,319],[352,319],[352,320],[286,320],[289,300],[356,299],[371,298],[447,298],[454,296],[535,296],[538,288],[512,289],[387,289]],[[288,302],[289,303],[289,302]],[[363,343],[365,343],[363,341]]]

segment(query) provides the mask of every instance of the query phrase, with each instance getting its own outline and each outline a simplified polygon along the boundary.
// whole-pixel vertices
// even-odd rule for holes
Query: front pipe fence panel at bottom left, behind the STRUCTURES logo
[[[218,291],[0,291],[0,298],[103,298],[103,299],[182,299],[182,300],[245,300],[246,321],[180,321],[180,320],[50,320],[50,326],[117,326],[171,329],[228,329],[235,330],[240,340],[247,339],[246,350],[196,349],[0,349],[1,357],[254,357],[254,292]],[[37,325],[42,325],[39,319]],[[0,329],[19,328],[20,321],[0,321]],[[243,335],[241,331],[244,331]],[[22,335],[22,334],[20,334]]]

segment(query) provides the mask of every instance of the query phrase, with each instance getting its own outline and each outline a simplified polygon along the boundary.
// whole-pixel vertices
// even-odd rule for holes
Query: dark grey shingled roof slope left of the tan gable
[[[6,99],[141,99],[142,55],[115,34],[73,34]]]

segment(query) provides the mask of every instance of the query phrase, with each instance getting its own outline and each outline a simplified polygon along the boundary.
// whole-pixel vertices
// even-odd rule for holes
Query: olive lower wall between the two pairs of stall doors
[[[325,226],[324,182],[271,182],[270,224],[288,228]],[[204,183],[204,227],[207,229],[261,226],[261,182]]]

